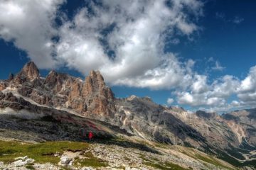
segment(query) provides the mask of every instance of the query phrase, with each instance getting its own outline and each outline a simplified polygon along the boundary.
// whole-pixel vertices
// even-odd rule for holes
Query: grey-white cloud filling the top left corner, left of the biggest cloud
[[[55,34],[53,16],[62,0],[0,1],[0,38],[28,53],[41,68],[55,65],[50,38]]]

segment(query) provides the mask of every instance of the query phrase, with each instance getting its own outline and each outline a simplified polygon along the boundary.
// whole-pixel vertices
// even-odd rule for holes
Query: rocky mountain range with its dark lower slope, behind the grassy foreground
[[[136,146],[154,154],[162,151],[152,148],[152,143],[176,146],[179,152],[193,149],[193,155],[204,152],[219,162],[222,159],[226,163],[219,169],[256,169],[256,109],[223,115],[189,113],[177,106],[161,106],[149,97],[115,98],[98,71],[91,71],[85,81],[55,71],[41,77],[36,64],[28,62],[18,74],[0,81],[0,117],[0,139],[82,142],[85,134],[93,132],[99,143]],[[188,166],[185,161],[179,166],[217,169],[216,164]]]

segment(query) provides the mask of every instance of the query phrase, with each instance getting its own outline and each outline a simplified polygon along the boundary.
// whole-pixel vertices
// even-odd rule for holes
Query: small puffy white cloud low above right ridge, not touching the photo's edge
[[[207,83],[207,77],[196,75],[196,81],[188,91],[176,91],[178,103],[190,106],[223,106],[232,94],[235,94],[240,82],[233,76],[226,75]]]

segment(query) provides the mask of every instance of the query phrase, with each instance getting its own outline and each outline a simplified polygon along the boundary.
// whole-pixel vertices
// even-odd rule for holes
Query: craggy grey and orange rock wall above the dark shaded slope
[[[144,140],[195,147],[233,162],[255,157],[255,109],[225,115],[188,113],[158,105],[149,97],[114,98],[100,72],[91,71],[85,81],[55,71],[43,78],[29,62],[18,74],[0,81],[1,109],[35,111],[35,107],[50,115],[72,113],[102,120]],[[246,148],[246,153],[240,148]]]

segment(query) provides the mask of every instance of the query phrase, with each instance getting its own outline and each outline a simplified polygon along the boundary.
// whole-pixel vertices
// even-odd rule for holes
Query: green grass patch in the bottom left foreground
[[[0,161],[4,163],[14,162],[16,157],[28,156],[38,163],[58,164],[59,157],[54,154],[63,154],[64,151],[82,151],[89,148],[85,142],[42,142],[38,144],[28,144],[20,142],[0,141]]]

